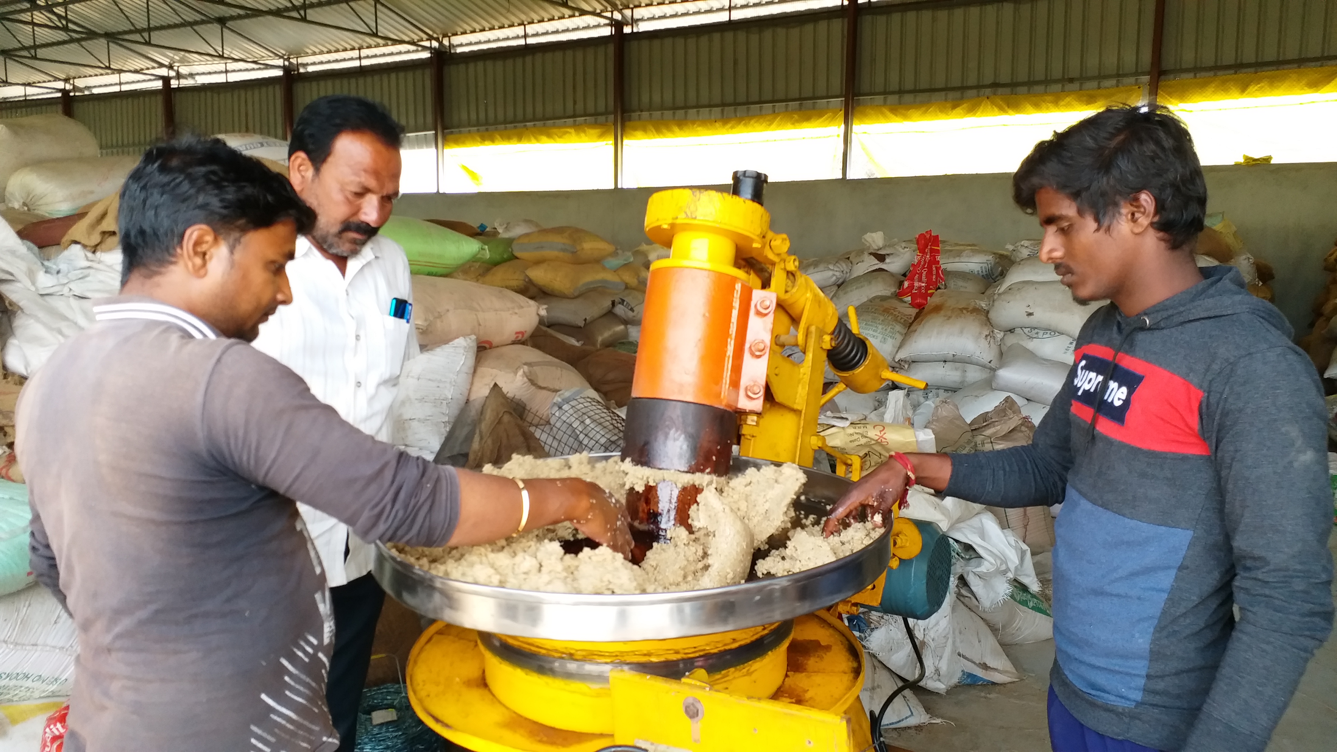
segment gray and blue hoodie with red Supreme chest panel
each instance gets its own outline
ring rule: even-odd
[[[1051,682],[1078,720],[1261,752],[1332,629],[1328,416],[1281,313],[1234,268],[1203,274],[1092,314],[1035,443],[955,455],[947,492],[1063,502]]]

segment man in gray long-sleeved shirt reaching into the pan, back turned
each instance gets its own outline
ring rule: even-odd
[[[151,149],[122,191],[123,297],[24,388],[32,566],[79,633],[70,752],[338,745],[329,591],[293,498],[365,541],[440,546],[572,521],[626,550],[583,480],[404,455],[242,340],[290,293],[310,210],[218,140]],[[532,508],[531,508],[532,502]]]

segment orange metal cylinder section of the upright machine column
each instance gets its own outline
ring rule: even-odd
[[[721,272],[652,269],[631,396],[735,409],[751,293]]]

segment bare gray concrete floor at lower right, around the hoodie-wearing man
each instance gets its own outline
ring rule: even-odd
[[[1328,549],[1337,555],[1337,531]],[[1337,587],[1333,589],[1337,602]],[[1025,678],[995,686],[957,686],[947,694],[919,690],[924,707],[948,724],[886,733],[886,741],[909,752],[1039,752],[1050,748],[1044,715],[1054,662],[1054,641],[1005,648]],[[1309,662],[1290,708],[1267,752],[1337,749],[1337,637]]]

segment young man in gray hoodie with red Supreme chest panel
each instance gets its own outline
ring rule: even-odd
[[[1056,752],[1261,752],[1332,629],[1318,376],[1238,270],[1194,264],[1207,190],[1167,110],[1098,112],[1036,145],[1012,186],[1044,227],[1040,258],[1075,298],[1110,305],[1034,444],[898,459],[953,496],[1063,502]],[[828,531],[910,480],[878,467]]]

